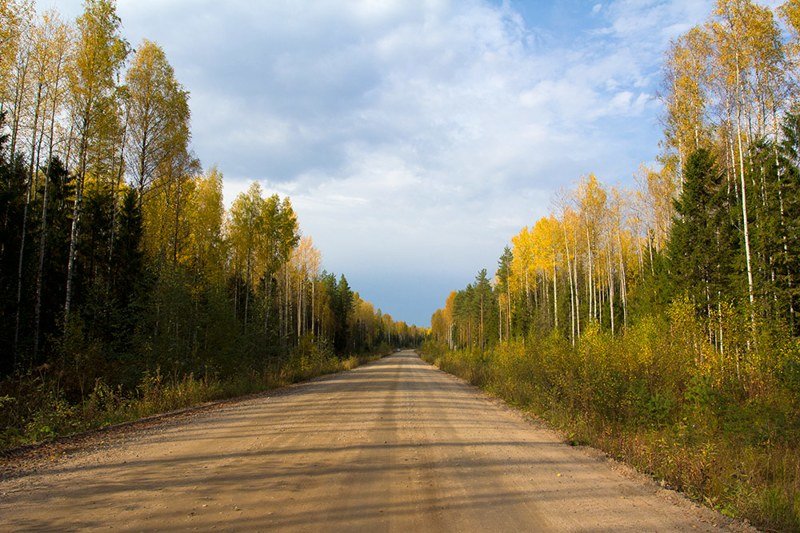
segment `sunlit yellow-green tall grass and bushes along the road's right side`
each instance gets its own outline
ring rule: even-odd
[[[576,347],[558,335],[484,354],[429,342],[423,357],[723,514],[800,531],[797,341],[764,329],[749,351],[720,354],[684,307],[623,335],[589,328]]]

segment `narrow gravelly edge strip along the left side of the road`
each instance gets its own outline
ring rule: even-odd
[[[330,374],[322,374],[305,381],[299,381],[283,387],[266,389],[261,392],[254,392],[244,396],[234,396],[213,400],[200,404],[157,413],[136,420],[128,420],[116,424],[109,424],[99,428],[89,429],[70,435],[62,435],[52,440],[36,444],[26,444],[16,448],[0,451],[0,482],[8,481],[30,475],[44,466],[52,466],[55,461],[67,460],[83,453],[97,452],[102,449],[118,446],[135,439],[143,432],[157,431],[174,427],[175,425],[191,420],[195,417],[206,415],[218,411],[224,407],[236,405],[259,398],[271,398],[275,396],[285,396],[293,394],[311,383],[335,379],[336,376],[347,372],[353,372],[359,368],[373,365],[381,359],[392,355],[391,352],[383,355],[376,355],[363,364],[349,370],[340,370]],[[416,353],[416,352],[415,352]]]

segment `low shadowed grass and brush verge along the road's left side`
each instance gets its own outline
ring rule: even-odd
[[[110,387],[98,379],[83,400],[74,402],[67,399],[58,380],[47,374],[6,381],[0,384],[0,452],[350,370],[390,351],[384,345],[375,354],[340,358],[318,344],[301,342],[290,357],[233,377],[221,379],[209,372],[175,377],[155,369],[145,374],[135,391]]]

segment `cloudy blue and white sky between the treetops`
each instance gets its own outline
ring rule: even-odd
[[[39,0],[72,18],[80,0]],[[290,196],[323,266],[428,325],[590,172],[630,185],[661,138],[669,41],[706,0],[118,0],[190,92],[192,147]]]

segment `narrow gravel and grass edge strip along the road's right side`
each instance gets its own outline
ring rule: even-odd
[[[419,354],[419,352],[417,352],[416,350],[415,353]],[[495,407],[502,409],[504,412],[513,415],[514,417],[519,419],[522,423],[532,426],[538,431],[542,431],[551,435],[553,439],[558,440],[564,446],[567,446],[570,449],[575,450],[577,453],[581,453],[585,457],[597,463],[605,464],[611,470],[623,476],[624,478],[640,484],[645,489],[655,494],[658,498],[679,507],[680,509],[684,510],[687,513],[691,513],[691,515],[697,518],[697,520],[709,524],[719,524],[724,529],[734,532],[751,533],[759,531],[758,529],[753,527],[753,525],[750,524],[748,520],[725,516],[716,509],[709,507],[704,502],[694,500],[679,490],[670,488],[666,485],[659,483],[652,475],[637,470],[633,465],[626,463],[624,461],[620,461],[599,448],[594,448],[592,446],[585,446],[585,445],[576,446],[574,444],[571,444],[569,442],[570,439],[565,432],[552,427],[550,424],[547,423],[547,421],[545,421],[543,418],[539,417],[535,413],[519,407],[515,407],[506,402],[501,397],[492,394],[489,391],[481,389],[480,387],[473,385],[472,383],[456,376],[455,374],[451,374],[449,372],[442,370],[438,366],[429,363],[422,357],[420,357],[420,360],[423,363],[430,365],[437,372],[444,374],[448,379],[461,384],[465,388],[471,389],[476,396],[482,398],[487,403],[490,403]]]

